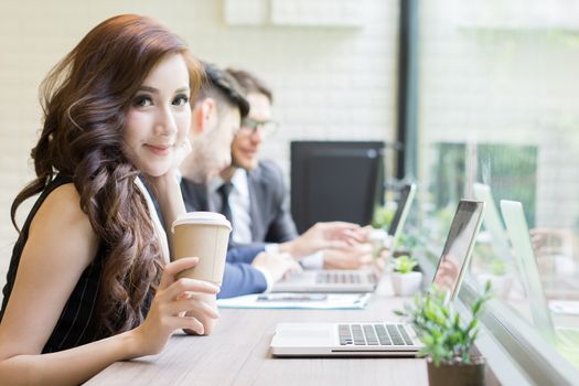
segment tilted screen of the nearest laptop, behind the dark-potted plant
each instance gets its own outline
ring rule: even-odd
[[[462,200],[450,226],[433,282],[454,299],[481,226],[484,203]]]

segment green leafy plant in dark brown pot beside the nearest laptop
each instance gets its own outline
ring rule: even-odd
[[[425,344],[418,355],[427,358],[431,386],[484,385],[485,361],[472,355],[472,346],[479,335],[479,318],[491,299],[491,283],[471,304],[470,320],[462,321],[447,299],[446,291],[432,286],[396,314],[412,323]]]

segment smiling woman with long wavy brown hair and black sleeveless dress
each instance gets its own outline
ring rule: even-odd
[[[169,262],[171,239],[141,182],[167,224],[184,212],[174,172],[190,149],[199,68],[164,26],[120,15],[44,81],[36,179],[11,212],[18,228],[18,207],[40,193],[3,290],[2,385],[79,384],[112,362],[160,352],[176,329],[211,330],[218,288],[175,280],[197,260]]]

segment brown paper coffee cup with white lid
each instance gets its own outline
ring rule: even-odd
[[[199,257],[195,267],[179,278],[204,280],[221,286],[232,225],[224,215],[213,212],[190,212],[173,223],[173,256]]]

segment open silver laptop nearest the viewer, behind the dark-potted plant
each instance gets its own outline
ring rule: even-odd
[[[484,203],[461,201],[433,281],[453,300],[467,271]],[[422,347],[414,329],[400,322],[280,323],[271,340],[274,356],[415,356]]]

